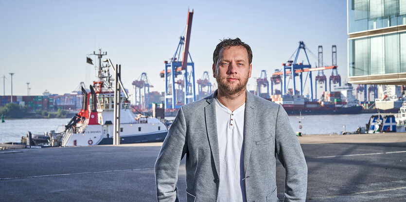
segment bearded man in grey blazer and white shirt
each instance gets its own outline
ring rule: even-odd
[[[251,48],[239,38],[213,53],[218,90],[177,112],[155,164],[159,202],[178,201],[186,154],[188,202],[277,202],[276,155],[285,168],[284,202],[304,202],[307,166],[281,105],[246,90]]]

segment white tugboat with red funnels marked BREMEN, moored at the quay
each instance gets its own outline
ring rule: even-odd
[[[65,125],[65,130],[61,133],[51,131],[43,136],[29,133],[25,140],[28,146],[113,144],[114,92],[112,81],[114,78],[109,74],[109,65],[102,63],[102,57],[106,54],[102,54],[100,49],[99,54],[93,54],[99,59],[98,81],[94,81],[93,85],[90,85],[90,92],[82,86],[82,109]],[[130,102],[124,93],[121,93],[120,143],[163,141],[168,133],[164,121],[161,118],[135,115],[130,107]]]

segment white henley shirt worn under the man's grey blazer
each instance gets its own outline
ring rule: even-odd
[[[220,176],[217,202],[246,202],[244,184],[245,103],[231,111],[216,98]]]

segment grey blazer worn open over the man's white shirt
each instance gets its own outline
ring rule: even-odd
[[[215,93],[182,106],[163,141],[155,179],[159,202],[177,202],[177,171],[186,154],[188,202],[216,202],[219,152]],[[304,202],[307,165],[285,110],[249,92],[244,120],[247,202],[278,202],[276,155],[285,168],[284,202]],[[235,176],[239,177],[239,176]]]

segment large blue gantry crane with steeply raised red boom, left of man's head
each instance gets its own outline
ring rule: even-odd
[[[195,101],[195,87],[194,87],[194,62],[189,52],[190,34],[192,30],[193,10],[188,10],[188,20],[186,22],[185,36],[181,36],[177,49],[171,60],[165,61],[165,69],[160,72],[160,77],[165,78],[165,109],[178,109],[184,103]],[[180,52],[183,47],[182,61],[179,61]],[[190,62],[188,62],[188,58]],[[184,98],[178,100],[177,92],[175,90],[175,78],[177,75],[183,74],[184,77]],[[169,102],[171,103],[169,105]]]

